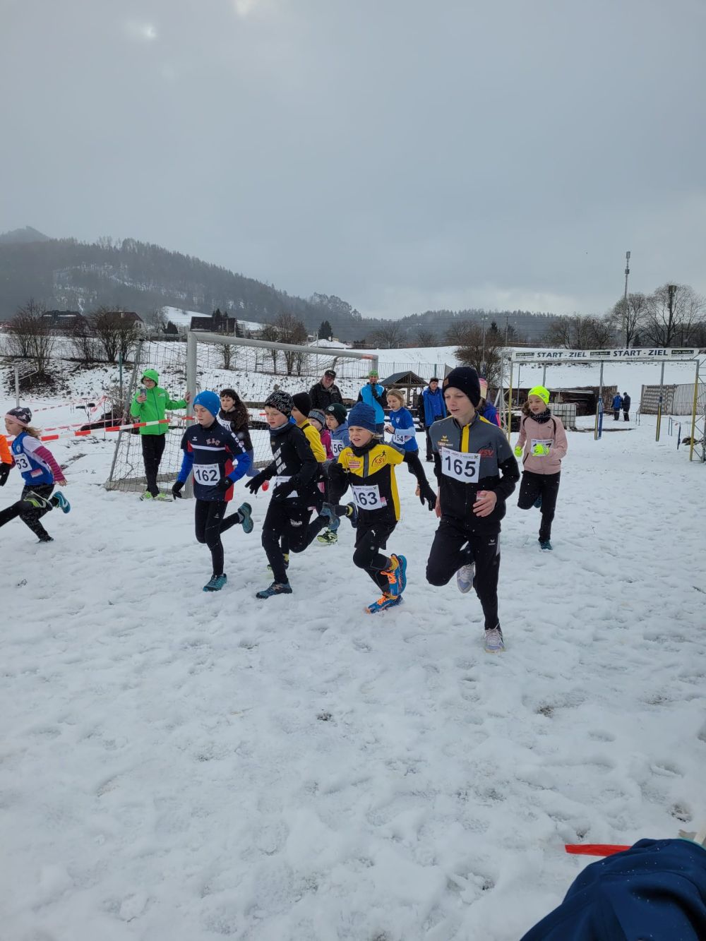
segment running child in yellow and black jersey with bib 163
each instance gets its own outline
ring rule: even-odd
[[[381,550],[387,548],[387,541],[400,518],[394,468],[403,461],[409,463],[409,455],[377,438],[376,418],[375,409],[365,403],[351,408],[348,415],[350,446],[329,468],[331,495],[335,493],[340,499],[350,486],[358,510],[353,563],[366,571],[382,592],[377,601],[363,609],[366,614],[377,614],[398,605],[407,585],[405,556],[384,555]],[[420,499],[431,510],[436,494],[426,478],[418,480]]]

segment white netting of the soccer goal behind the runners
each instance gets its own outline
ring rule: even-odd
[[[262,468],[272,459],[263,410],[270,392],[278,389],[290,394],[308,392],[327,369],[332,369],[345,404],[351,406],[373,367],[377,367],[377,357],[359,350],[295,346],[191,331],[186,344],[161,341],[138,344],[122,409],[126,422],[135,421],[128,417],[130,403],[143,371],[148,368],[159,373],[159,385],[173,401],[183,398],[186,389],[191,392],[192,401],[200,391],[220,393],[233,389],[248,407],[255,466]],[[157,480],[170,484],[182,465],[182,435],[193,420],[190,408],[168,411],[166,417],[168,432]],[[139,429],[121,431],[105,487],[140,491],[145,485]]]

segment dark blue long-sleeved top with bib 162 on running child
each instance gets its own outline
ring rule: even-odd
[[[230,428],[214,419],[208,428],[192,424],[182,438],[182,469],[177,480],[185,483],[194,474],[194,496],[197,500],[230,500],[233,489],[217,490],[224,477],[232,484],[249,470],[250,458]]]

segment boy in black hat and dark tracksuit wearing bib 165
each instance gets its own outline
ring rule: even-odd
[[[430,429],[441,524],[426,581],[444,585],[456,573],[459,591],[475,588],[485,615],[485,648],[499,653],[505,649],[498,623],[500,520],[520,470],[500,428],[475,411],[480,385],[474,369],[459,366],[449,373],[444,400],[449,417]]]

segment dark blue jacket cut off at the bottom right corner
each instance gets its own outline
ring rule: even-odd
[[[641,839],[587,866],[558,908],[521,941],[703,941],[706,850]]]

